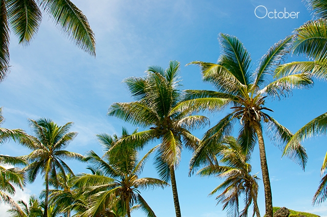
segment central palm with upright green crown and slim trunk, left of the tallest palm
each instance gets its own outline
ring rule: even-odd
[[[180,63],[170,61],[166,70],[159,66],[151,66],[144,78],[124,79],[123,82],[136,101],[113,103],[108,111],[109,116],[150,128],[121,139],[126,146],[142,149],[149,141],[160,139],[155,166],[161,179],[167,182],[171,180],[176,217],[181,217],[181,209],[175,169],[181,159],[183,145],[195,150],[200,140],[189,130],[204,126],[208,122],[208,118],[204,116],[188,116],[190,108],[174,110],[182,100],[183,94],[179,89],[181,86],[179,70]]]

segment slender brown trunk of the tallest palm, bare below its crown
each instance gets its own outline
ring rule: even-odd
[[[266,159],[264,137],[262,135],[262,130],[258,122],[254,121],[253,127],[257,134],[258,143],[259,143],[260,164],[261,164],[261,171],[262,171],[262,179],[264,181],[264,188],[265,188],[266,217],[272,217],[272,195],[271,195],[270,179],[269,179],[268,165]]]

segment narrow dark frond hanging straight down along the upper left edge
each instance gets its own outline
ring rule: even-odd
[[[9,25],[6,2],[0,2],[0,82],[9,73]]]

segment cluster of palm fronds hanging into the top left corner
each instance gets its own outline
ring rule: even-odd
[[[40,9],[78,47],[95,56],[94,33],[82,11],[70,0],[3,0],[0,2],[0,82],[9,72],[10,28],[20,44],[29,44],[41,24]]]

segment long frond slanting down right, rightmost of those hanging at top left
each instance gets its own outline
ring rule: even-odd
[[[70,0],[43,0],[41,7],[48,13],[63,34],[78,47],[95,56],[95,38],[88,20]]]

